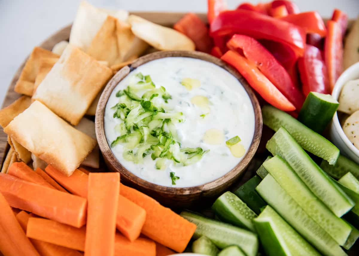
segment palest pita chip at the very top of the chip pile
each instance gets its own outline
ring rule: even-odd
[[[87,48],[109,15],[118,20],[126,20],[128,12],[123,10],[100,9],[86,1],[81,1],[71,27],[70,44],[87,52]]]

